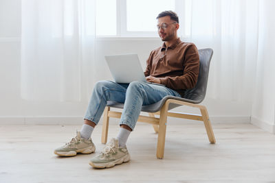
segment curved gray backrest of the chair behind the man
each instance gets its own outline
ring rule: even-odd
[[[212,55],[212,49],[199,49],[199,77],[195,88],[188,89],[184,93],[185,99],[195,101],[194,103],[201,103],[201,101],[203,101],[206,96],[209,66]]]

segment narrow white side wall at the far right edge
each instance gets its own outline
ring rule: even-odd
[[[259,49],[253,84],[252,121],[273,125],[275,133],[275,1],[260,1]],[[254,119],[253,119],[254,118]],[[264,127],[262,125],[261,127]],[[267,125],[268,126],[268,125]]]

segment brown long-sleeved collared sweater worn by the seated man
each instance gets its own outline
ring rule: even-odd
[[[160,82],[184,96],[184,90],[194,88],[199,76],[199,53],[190,42],[177,41],[166,48],[151,51],[147,60],[145,76],[161,77]]]

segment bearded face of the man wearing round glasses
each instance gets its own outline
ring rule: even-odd
[[[157,19],[157,27],[159,27],[158,33],[162,41],[169,41],[177,35],[179,24],[171,20],[170,16],[164,16]]]

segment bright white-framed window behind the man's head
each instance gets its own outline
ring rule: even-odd
[[[177,12],[179,36],[186,36],[190,34],[189,8],[191,0],[96,0],[96,36],[157,37],[155,18],[165,10]]]

